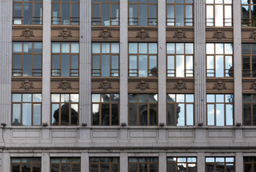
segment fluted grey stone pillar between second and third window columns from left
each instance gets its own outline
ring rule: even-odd
[[[91,1],[80,1],[79,125],[91,125]]]

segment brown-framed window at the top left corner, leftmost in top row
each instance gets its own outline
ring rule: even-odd
[[[42,24],[42,0],[14,0],[13,24]]]

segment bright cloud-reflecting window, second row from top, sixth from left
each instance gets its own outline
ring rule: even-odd
[[[233,77],[233,44],[206,44],[207,77]]]

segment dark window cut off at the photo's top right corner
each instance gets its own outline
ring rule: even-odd
[[[242,0],[242,27],[256,27],[256,2]]]

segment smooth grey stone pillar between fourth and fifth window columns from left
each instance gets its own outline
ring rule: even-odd
[[[166,125],[166,2],[158,1],[158,116]]]

